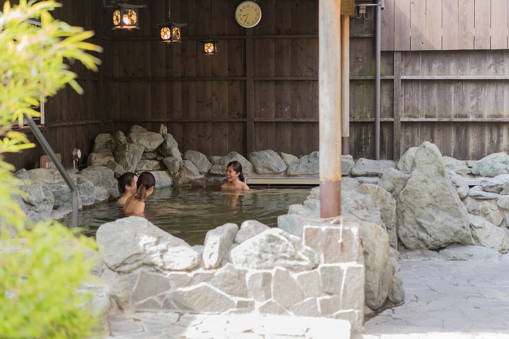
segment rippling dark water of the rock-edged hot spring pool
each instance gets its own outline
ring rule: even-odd
[[[309,188],[254,188],[247,192],[217,189],[156,189],[146,199],[145,218],[191,245],[203,244],[205,233],[224,223],[256,219],[276,226],[277,216],[292,204],[302,203]],[[103,223],[124,218],[122,206],[103,202],[80,210],[79,221],[95,234]],[[71,216],[64,223],[69,225]]]

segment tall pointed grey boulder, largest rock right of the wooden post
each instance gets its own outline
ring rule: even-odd
[[[439,249],[472,244],[467,210],[446,176],[438,148],[423,142],[414,169],[398,195],[398,235],[406,248]]]

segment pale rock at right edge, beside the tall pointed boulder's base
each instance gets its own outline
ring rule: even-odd
[[[505,231],[477,215],[468,215],[470,230],[476,245],[505,253],[509,250],[509,238]]]

